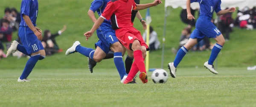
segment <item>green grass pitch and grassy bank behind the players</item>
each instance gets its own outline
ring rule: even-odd
[[[96,33],[88,41],[83,34],[93,23],[87,15],[92,0],[39,0],[37,25],[42,30],[57,32],[64,24],[67,31],[56,40],[64,51],[79,40],[93,48]],[[141,3],[149,3],[141,0]],[[163,1],[164,2],[164,1]],[[5,7],[19,10],[21,0],[1,0],[0,15]],[[166,23],[164,65],[172,62],[180,34],[185,24],[180,10],[172,10]],[[164,5],[150,8],[154,30],[159,40],[163,36]],[[140,11],[145,17],[145,10]],[[236,14],[233,14],[236,16]],[[142,33],[139,20],[135,28]],[[177,78],[166,84],[121,84],[113,59],[98,63],[94,73],[87,69],[87,58],[79,53],[65,56],[64,52],[39,61],[32,71],[31,82],[18,83],[26,58],[9,57],[0,60],[0,107],[256,107],[256,72],[246,67],[256,65],[256,30],[234,28],[230,41],[218,55],[218,75],[203,68],[210,51],[189,52],[180,63]],[[17,31],[13,34],[16,39]],[[5,50],[6,51],[6,50]],[[161,50],[150,53],[150,68],[160,68]],[[196,69],[195,66],[199,68]],[[168,71],[168,70],[167,70]],[[169,71],[168,71],[169,72]],[[148,73],[151,76],[151,72]]]

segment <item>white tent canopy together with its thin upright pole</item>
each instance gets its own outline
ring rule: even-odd
[[[165,18],[164,18],[164,27],[163,27],[163,48],[162,48],[162,64],[161,68],[163,69],[163,60],[164,60],[164,45],[165,45],[165,36],[166,36],[166,17],[169,15],[167,11],[167,7],[171,6],[172,8],[181,7],[186,9],[186,0],[165,0]],[[227,7],[238,7],[244,8],[249,7],[253,8],[256,6],[256,0],[221,0],[221,9],[225,9]],[[196,9],[199,8],[199,3],[192,3],[191,8]]]

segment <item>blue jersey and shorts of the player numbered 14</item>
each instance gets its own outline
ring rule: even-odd
[[[200,16],[190,38],[197,38],[200,41],[204,37],[215,38],[221,35],[218,28],[211,22],[213,11],[216,13],[221,11],[221,0],[191,0],[190,2],[198,2],[200,5]]]

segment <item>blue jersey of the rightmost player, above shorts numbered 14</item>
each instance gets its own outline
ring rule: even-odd
[[[221,11],[221,0],[190,0],[191,3],[198,2],[200,5],[200,15],[212,18],[213,11]]]

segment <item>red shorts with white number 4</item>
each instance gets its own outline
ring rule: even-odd
[[[148,45],[143,40],[140,31],[138,31],[134,27],[116,29],[116,38],[119,40],[119,42],[122,43],[122,45],[125,46],[125,48],[128,48],[130,50],[132,50],[132,43],[134,42],[135,39],[137,39],[139,40],[140,45],[145,46],[147,48],[147,51],[149,51]]]

